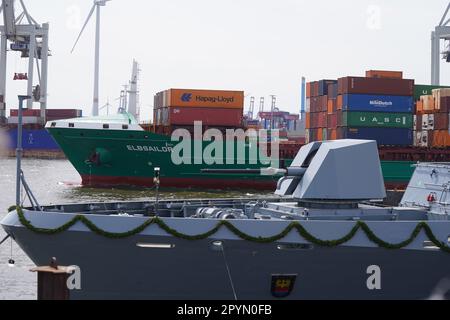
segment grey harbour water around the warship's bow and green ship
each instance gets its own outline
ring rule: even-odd
[[[24,159],[25,178],[40,204],[98,202],[114,200],[154,199],[155,191],[147,189],[92,189],[80,185],[81,178],[67,160]],[[16,161],[0,158],[0,220],[7,209],[15,203]],[[240,191],[193,191],[161,190],[163,199],[174,198],[219,198],[254,196],[254,193]],[[27,205],[27,202],[25,202]],[[0,240],[6,236],[0,228]],[[9,267],[8,260],[15,260]],[[7,240],[0,246],[0,300],[36,299],[37,275],[29,270],[33,262],[14,241]]]

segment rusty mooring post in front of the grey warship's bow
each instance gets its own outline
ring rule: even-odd
[[[58,266],[52,258],[50,266],[30,270],[38,273],[38,300],[69,300],[70,290],[67,279],[72,273],[69,267]]]

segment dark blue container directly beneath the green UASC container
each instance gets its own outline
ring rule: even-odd
[[[344,139],[376,140],[383,146],[411,146],[413,131],[398,128],[343,128]]]

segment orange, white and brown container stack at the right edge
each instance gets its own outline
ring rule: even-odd
[[[423,91],[420,88],[417,88],[417,90]],[[416,114],[414,116],[414,146],[423,148],[449,147],[449,112],[449,88],[432,89],[431,95],[420,96],[416,103]]]

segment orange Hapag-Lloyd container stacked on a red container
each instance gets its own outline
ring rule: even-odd
[[[169,89],[154,97],[155,126],[240,127],[244,109],[243,91]]]

